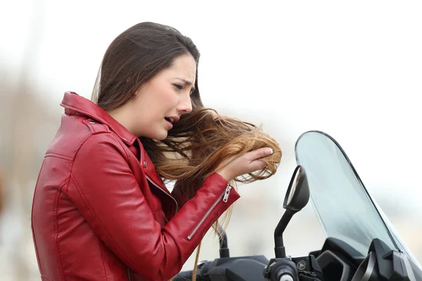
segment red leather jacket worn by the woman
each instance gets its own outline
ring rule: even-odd
[[[41,279],[169,280],[238,193],[212,174],[178,207],[138,138],[82,96],[61,105],[32,204]]]

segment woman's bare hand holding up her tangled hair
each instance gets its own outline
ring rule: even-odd
[[[224,166],[224,168],[217,169],[217,174],[226,181],[231,181],[237,176],[264,169],[266,164],[260,158],[271,155],[272,152],[271,148],[260,148],[247,152],[240,157],[231,158],[229,159],[229,164]]]

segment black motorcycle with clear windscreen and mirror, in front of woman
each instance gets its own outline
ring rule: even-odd
[[[295,144],[296,166],[286,209],[274,230],[274,258],[230,257],[226,234],[220,257],[198,264],[198,281],[422,281],[422,267],[371,198],[337,141],[321,131]],[[295,213],[312,202],[326,233],[321,249],[286,256],[283,232]],[[191,280],[192,271],[174,281]]]

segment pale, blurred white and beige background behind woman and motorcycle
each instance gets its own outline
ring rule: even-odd
[[[275,176],[238,187],[242,198],[227,230],[232,256],[274,256],[295,141],[316,129],[343,146],[421,263],[420,1],[0,5],[0,280],[40,280],[30,230],[32,194],[60,125],[63,93],[90,98],[108,44],[143,21],[191,37],[201,52],[198,81],[205,105],[262,124],[283,149]],[[298,256],[320,248],[324,239],[309,204],[293,218],[284,240],[287,254]],[[210,233],[200,259],[217,256],[217,238]]]

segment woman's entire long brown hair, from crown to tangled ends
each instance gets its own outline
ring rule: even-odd
[[[279,144],[260,127],[218,115],[205,108],[198,89],[200,53],[193,41],[173,27],[141,22],[120,34],[108,47],[101,63],[92,99],[103,110],[113,110],[131,100],[139,87],[170,67],[174,58],[191,54],[196,61],[192,112],[174,123],[163,141],[141,137],[141,143],[164,180],[175,180],[172,194],[179,205],[195,196],[207,176],[222,169],[232,157],[257,148],[270,147],[273,155],[263,160],[267,166],[234,182],[252,182],[276,172],[281,159]],[[232,183],[234,184],[234,183]],[[229,218],[231,208],[226,212]],[[228,221],[228,220],[226,220]],[[217,227],[214,228],[219,233]],[[199,249],[196,254],[198,261]],[[193,272],[196,280],[196,265]]]

